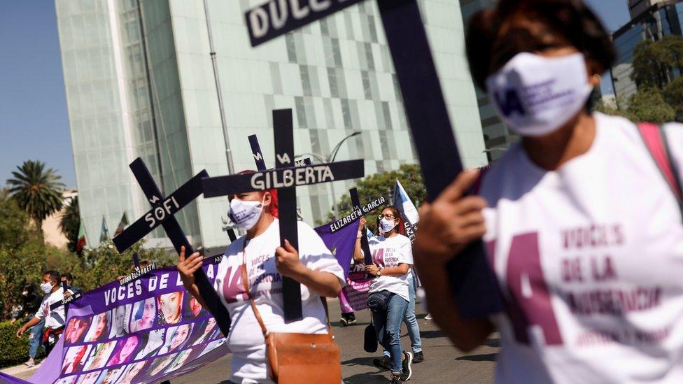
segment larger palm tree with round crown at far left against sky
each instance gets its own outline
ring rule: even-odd
[[[34,220],[42,239],[43,220],[62,209],[62,176],[52,168],[45,169],[45,163],[38,160],[27,160],[17,170],[7,180],[10,194]]]

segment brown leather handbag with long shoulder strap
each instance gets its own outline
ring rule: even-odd
[[[244,251],[243,251],[244,257]],[[328,318],[328,334],[289,334],[268,332],[261,314],[256,308],[244,258],[242,262],[242,281],[251,301],[256,320],[266,341],[266,356],[272,381],[280,384],[321,383],[339,384],[342,382],[342,363],[339,346],[334,341],[328,303],[321,297]]]

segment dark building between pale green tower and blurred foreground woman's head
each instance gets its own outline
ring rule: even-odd
[[[460,0],[460,9],[463,13],[465,25],[467,25],[467,20],[470,20],[470,17],[478,10],[493,8],[495,3],[496,0]],[[477,92],[477,106],[479,106],[481,129],[484,131],[488,159],[494,161],[502,157],[512,143],[519,141],[519,136],[510,132],[505,123],[500,120],[491,100],[488,99],[486,90],[481,90],[476,85],[474,88]]]

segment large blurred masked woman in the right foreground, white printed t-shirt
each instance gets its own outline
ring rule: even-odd
[[[470,20],[467,55],[522,140],[423,206],[433,317],[463,350],[497,328],[498,381],[683,381],[683,127],[663,127],[667,147],[657,127],[584,108],[615,53],[580,0],[500,0]],[[463,320],[446,263],[482,238],[505,312]]]

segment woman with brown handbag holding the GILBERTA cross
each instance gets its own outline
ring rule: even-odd
[[[280,247],[275,190],[230,196],[229,216],[237,228],[246,230],[246,236],[227,247],[214,285],[232,319],[226,340],[232,352],[229,382],[272,383],[265,339],[244,287],[242,265],[246,265],[249,290],[268,332],[328,333],[321,296],[339,296],[344,271],[320,236],[304,222],[297,222],[299,252],[289,245]],[[201,265],[199,253],[187,258],[181,253],[178,271],[188,292],[205,307],[192,274]],[[301,283],[303,320],[284,321],[283,276]]]

